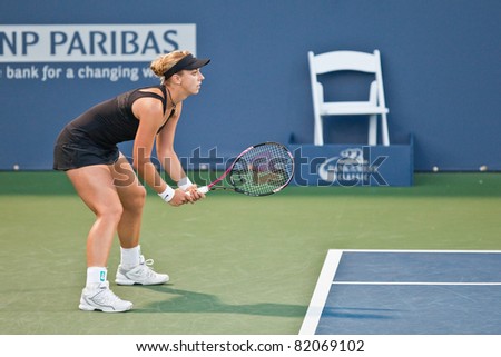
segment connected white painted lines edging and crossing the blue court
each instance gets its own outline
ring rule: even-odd
[[[299,335],[315,335],[328,292],[333,285],[463,285],[498,286],[501,282],[370,282],[370,281],[333,281],[343,252],[433,252],[433,254],[501,254],[501,250],[384,250],[384,249],[330,249],[325,257],[321,275],[316,282],[312,300],[299,329]]]

